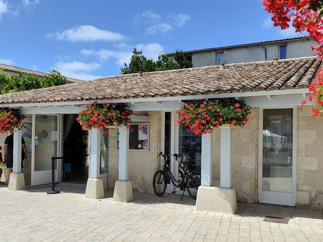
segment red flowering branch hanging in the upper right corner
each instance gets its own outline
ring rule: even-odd
[[[319,59],[323,59],[323,1],[321,0],[261,0],[263,8],[272,13],[274,26],[282,29],[290,27],[289,22],[296,32],[307,31],[309,36],[318,43],[311,49]],[[317,78],[308,88],[309,101],[315,100],[312,106],[312,117],[323,116],[323,75],[321,69],[317,72]],[[306,101],[302,101],[305,105]]]

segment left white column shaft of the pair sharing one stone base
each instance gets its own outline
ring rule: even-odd
[[[201,186],[212,186],[213,135],[202,135]]]

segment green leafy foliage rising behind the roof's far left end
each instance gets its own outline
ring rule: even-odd
[[[58,86],[66,84],[66,81],[67,78],[55,70],[49,71],[49,74],[45,77],[37,77],[26,73],[8,75],[0,70],[1,94]]]

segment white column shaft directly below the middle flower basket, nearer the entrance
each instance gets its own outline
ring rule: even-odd
[[[100,178],[100,135],[98,129],[91,129],[90,136],[90,176],[89,178]]]

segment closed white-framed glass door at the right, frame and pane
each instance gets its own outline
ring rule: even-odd
[[[295,206],[295,109],[261,109],[259,202]]]

